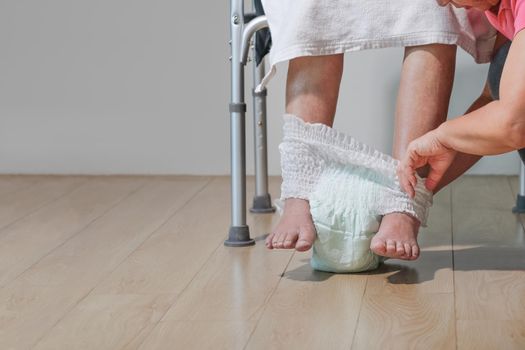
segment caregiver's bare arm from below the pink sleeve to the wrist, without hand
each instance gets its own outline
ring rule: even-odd
[[[476,155],[525,147],[525,30],[512,42],[501,77],[500,100],[443,123],[436,137],[446,148]]]

